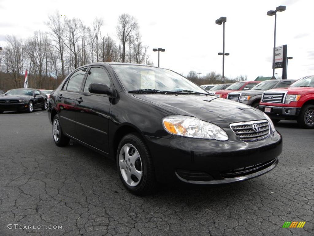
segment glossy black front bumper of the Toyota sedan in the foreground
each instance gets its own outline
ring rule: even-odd
[[[225,142],[180,136],[145,138],[156,177],[167,183],[220,184],[251,179],[272,170],[282,151],[278,132],[256,142],[237,138]]]

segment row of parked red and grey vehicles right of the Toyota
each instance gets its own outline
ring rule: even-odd
[[[256,83],[256,86],[249,87]],[[208,93],[257,108],[274,123],[294,120],[302,128],[314,128],[314,76],[305,76],[297,81],[242,81],[224,90],[212,89]]]

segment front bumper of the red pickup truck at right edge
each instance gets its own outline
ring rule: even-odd
[[[270,108],[270,112],[265,112],[265,108]],[[300,107],[276,107],[259,105],[259,110],[265,112],[272,119],[296,120],[300,114]]]

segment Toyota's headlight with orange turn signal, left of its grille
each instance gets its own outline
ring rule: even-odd
[[[226,141],[227,133],[212,123],[185,115],[170,115],[162,119],[167,132],[183,137],[205,138]]]

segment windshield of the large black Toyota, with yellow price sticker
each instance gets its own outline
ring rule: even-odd
[[[167,69],[140,65],[111,65],[124,88],[130,92],[135,90],[198,92],[205,91],[185,77]]]

